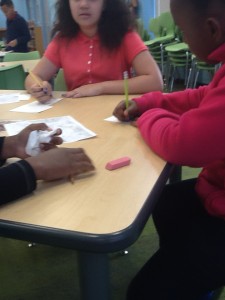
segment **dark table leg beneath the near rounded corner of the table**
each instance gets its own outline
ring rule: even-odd
[[[82,300],[109,300],[109,261],[105,253],[79,252]]]

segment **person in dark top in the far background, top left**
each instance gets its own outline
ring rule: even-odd
[[[1,0],[0,6],[6,16],[6,51],[28,52],[31,40],[28,24],[14,9],[11,0]]]

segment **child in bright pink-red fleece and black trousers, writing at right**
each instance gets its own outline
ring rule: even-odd
[[[225,1],[170,5],[191,51],[223,65],[208,86],[147,93],[114,110],[122,121],[137,118],[164,160],[202,167],[198,178],[165,186],[153,210],[159,249],[131,282],[129,300],[202,300],[225,285]]]

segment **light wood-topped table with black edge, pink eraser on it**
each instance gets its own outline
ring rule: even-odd
[[[82,299],[110,299],[107,253],[136,241],[171,169],[137,128],[104,121],[122,98],[63,99],[41,114],[10,112],[18,103],[0,106],[3,119],[71,115],[97,134],[63,145],[85,148],[96,167],[94,175],[81,176],[74,184],[66,179],[39,182],[32,195],[0,208],[0,235],[78,250]],[[132,159],[130,166],[105,169],[108,161],[122,156]]]

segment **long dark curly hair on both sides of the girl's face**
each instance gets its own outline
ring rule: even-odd
[[[98,24],[101,44],[110,50],[117,48],[124,35],[135,28],[135,20],[124,0],[104,0],[104,10]],[[59,33],[61,37],[75,37],[80,31],[74,21],[69,0],[56,2],[56,22],[52,36]]]

